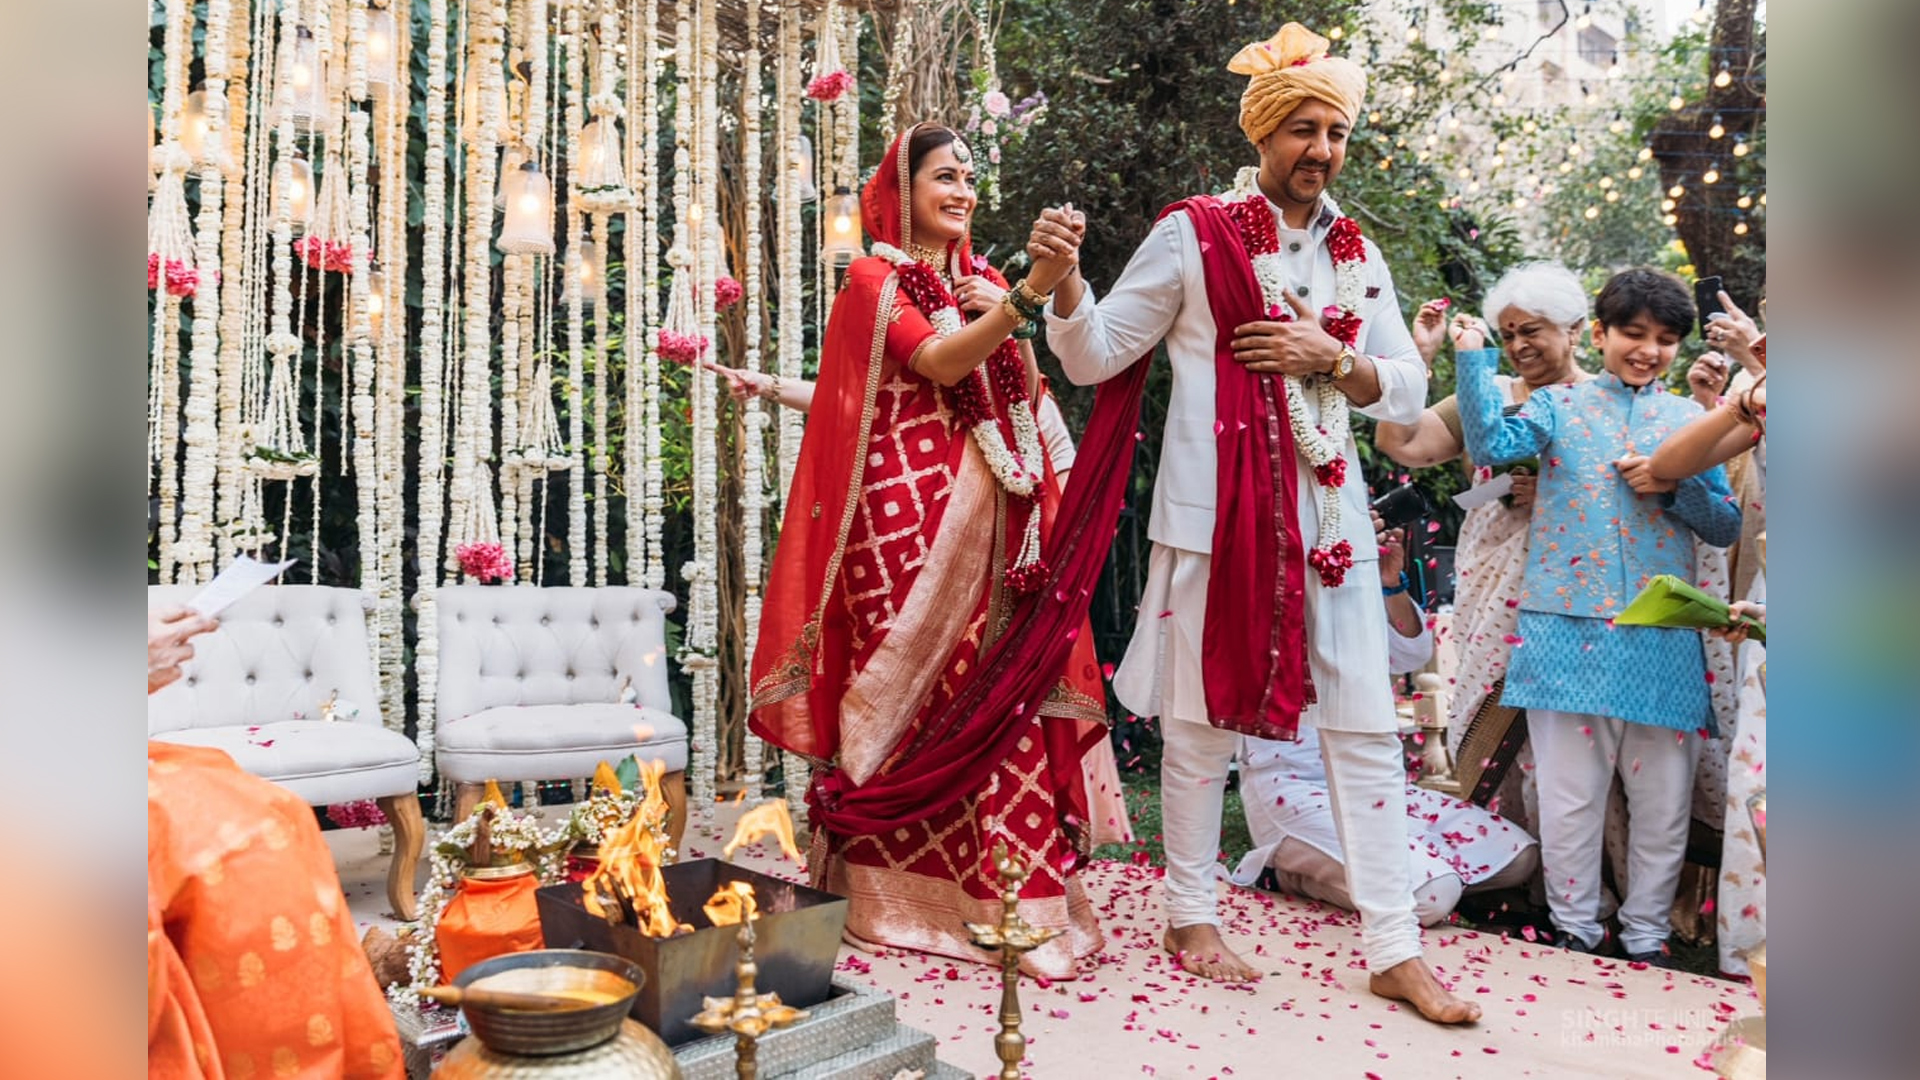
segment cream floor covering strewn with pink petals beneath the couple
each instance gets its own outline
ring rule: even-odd
[[[735,815],[720,807],[716,821],[730,830]],[[372,830],[326,836],[361,930],[394,926]],[[687,847],[689,857],[714,855],[720,840],[693,828]],[[778,851],[743,849],[739,861],[803,878]],[[1021,984],[1027,1076],[1705,1078],[1715,1036],[1730,1019],[1759,1013],[1745,984],[1634,970],[1524,940],[1428,930],[1428,963],[1484,1013],[1475,1028],[1440,1028],[1367,994],[1359,924],[1348,913],[1225,890],[1225,930],[1265,972],[1252,988],[1235,990],[1183,974],[1160,951],[1152,867],[1098,863],[1087,890],[1108,936],[1102,967],[1073,982]],[[943,1061],[975,1076],[998,1072],[996,969],[843,945],[839,970],[893,994],[902,1022],[941,1040]]]

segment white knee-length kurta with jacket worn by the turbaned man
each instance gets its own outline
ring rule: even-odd
[[[1288,288],[1311,307],[1332,302],[1334,271],[1325,238],[1338,215],[1327,198],[1311,229],[1281,229]],[[1357,411],[1411,425],[1427,405],[1427,365],[1407,332],[1380,250],[1371,240],[1365,248],[1369,296],[1356,348],[1373,359],[1380,398]],[[1154,227],[1106,298],[1096,302],[1087,286],[1071,315],[1060,317],[1052,307],[1046,313],[1046,344],[1068,379],[1079,384],[1119,375],[1162,340],[1173,365],[1173,392],[1146,530],[1154,552],[1133,642],[1114,675],[1114,694],[1139,715],[1206,724],[1200,642],[1217,475],[1215,325],[1200,244],[1185,213],[1169,213]],[[1317,421],[1313,398],[1308,398],[1308,409]],[[1311,569],[1306,575],[1308,657],[1317,703],[1306,709],[1302,723],[1329,730],[1390,732],[1398,730],[1398,719],[1380,651],[1386,617],[1371,573],[1379,548],[1352,436],[1346,461],[1350,480],[1340,492],[1340,536],[1352,544],[1356,567],[1340,588],[1321,586]],[[1317,488],[1306,459],[1296,455],[1294,465],[1300,536],[1302,544],[1313,546],[1321,538]]]

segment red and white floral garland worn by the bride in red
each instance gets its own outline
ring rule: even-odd
[[[943,338],[960,332],[962,315],[947,282],[927,263],[922,263],[893,244],[874,244],[874,254],[895,265],[900,277],[900,292],[914,307],[933,323],[933,331]],[[1044,477],[1041,457],[1041,425],[1027,404],[1027,365],[1020,359],[1014,338],[1004,338],[985,363],[975,367],[966,379],[948,386],[954,411],[960,423],[973,434],[993,479],[1000,488],[1016,498],[1037,502]],[[1014,448],[1006,446],[1000,432],[1000,417],[995,409],[995,392],[1006,400],[1008,421],[1014,427]],[[1041,559],[1041,515],[1039,505],[1027,513],[1025,536],[1014,565],[1006,571],[1006,586],[1025,596],[1041,586],[1046,577],[1046,563]]]

